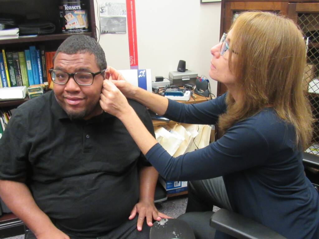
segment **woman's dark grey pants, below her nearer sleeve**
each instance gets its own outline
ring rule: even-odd
[[[212,239],[215,229],[209,225],[213,206],[232,210],[222,177],[189,181],[186,213],[178,219],[186,221],[196,239]]]

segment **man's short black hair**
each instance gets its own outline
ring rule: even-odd
[[[105,53],[102,47],[94,38],[86,35],[76,34],[65,39],[56,50],[53,62],[59,52],[69,55],[88,52],[95,56],[96,63],[100,70],[106,69],[107,67]]]

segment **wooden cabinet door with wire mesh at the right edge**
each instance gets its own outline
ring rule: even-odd
[[[309,98],[315,123],[312,144],[306,151],[319,156],[319,84],[315,84],[319,71],[319,3],[290,3],[288,16],[299,25],[305,38],[309,37],[303,89]]]

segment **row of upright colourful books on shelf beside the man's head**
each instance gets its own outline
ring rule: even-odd
[[[44,46],[30,46],[24,51],[0,51],[0,88],[44,84],[50,85],[48,70],[53,66],[55,51],[45,52]]]

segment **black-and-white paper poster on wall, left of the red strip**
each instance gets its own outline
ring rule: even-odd
[[[126,33],[126,1],[111,0],[100,2],[100,33],[125,34]]]

